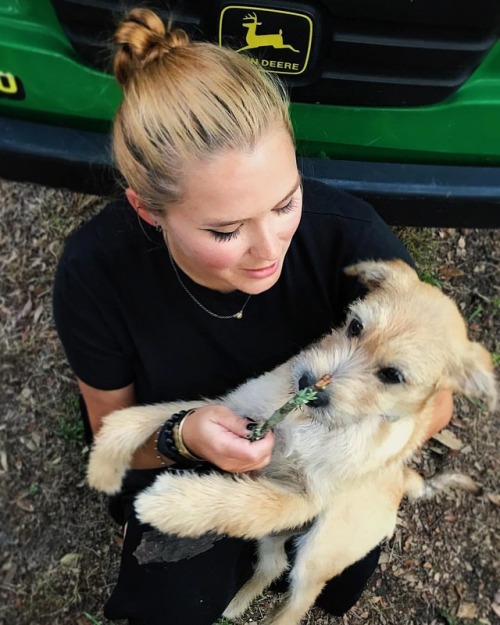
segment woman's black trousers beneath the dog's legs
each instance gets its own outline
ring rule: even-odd
[[[255,543],[223,538],[193,557],[177,562],[139,564],[134,552],[149,526],[133,514],[133,499],[158,471],[131,471],[121,495],[110,502],[120,523],[127,522],[116,587],[104,614],[110,620],[128,619],[129,625],[212,625],[252,575]],[[293,554],[291,554],[293,557]],[[379,548],[330,580],[316,601],[333,615],[346,612],[359,599],[378,562]],[[286,590],[286,578],[275,590]]]

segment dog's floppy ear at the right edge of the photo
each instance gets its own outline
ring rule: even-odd
[[[451,390],[470,397],[479,397],[494,411],[498,400],[498,388],[493,373],[491,354],[479,343],[468,342],[461,362],[449,374]]]

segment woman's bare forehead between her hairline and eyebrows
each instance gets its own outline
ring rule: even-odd
[[[207,222],[246,219],[273,208],[297,180],[292,139],[287,131],[275,130],[253,149],[224,151],[193,165],[175,208]]]

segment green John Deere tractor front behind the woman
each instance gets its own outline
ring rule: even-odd
[[[140,4],[282,78],[304,175],[391,224],[500,227],[498,0]],[[0,176],[113,189],[109,42],[131,5],[1,0]]]

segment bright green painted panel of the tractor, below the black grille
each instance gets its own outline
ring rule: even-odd
[[[0,114],[107,131],[114,78],[83,64],[49,0],[0,7]],[[406,163],[500,164],[500,42],[447,100],[415,108],[292,104],[298,152]]]

